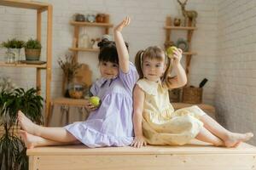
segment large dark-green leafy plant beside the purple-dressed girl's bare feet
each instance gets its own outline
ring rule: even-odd
[[[0,135],[0,169],[28,169],[26,146],[17,135],[17,112],[22,111],[33,122],[42,124],[42,108],[43,98],[34,88],[0,91],[0,126],[3,128]]]

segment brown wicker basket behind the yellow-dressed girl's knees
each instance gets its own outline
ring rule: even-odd
[[[202,88],[183,88],[183,103],[201,104],[202,92]]]

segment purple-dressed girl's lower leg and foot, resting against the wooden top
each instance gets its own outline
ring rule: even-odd
[[[20,130],[20,137],[26,145],[27,149],[32,149],[37,146],[49,146],[49,145],[65,145],[65,144],[80,144],[79,140],[75,142],[57,142],[54,140],[44,139],[40,136],[35,136],[26,131]]]

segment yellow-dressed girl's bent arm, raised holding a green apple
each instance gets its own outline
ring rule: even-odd
[[[173,54],[173,70],[177,74],[176,77],[168,77],[166,80],[166,86],[168,88],[180,88],[187,83],[187,75],[183,69],[183,66],[180,64],[182,58],[182,50],[177,48]]]

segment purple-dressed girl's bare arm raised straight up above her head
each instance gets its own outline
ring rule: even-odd
[[[113,30],[114,41],[116,43],[116,48],[119,54],[119,68],[124,73],[128,73],[129,71],[129,54],[125,46],[125,41],[121,34],[121,31],[125,26],[128,26],[130,24],[130,20],[131,19],[129,17],[125,17],[125,20],[123,20]]]

